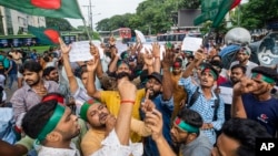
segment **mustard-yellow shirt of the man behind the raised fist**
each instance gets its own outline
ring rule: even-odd
[[[136,93],[136,103],[133,105],[132,110],[132,117],[140,119],[140,105],[141,105],[141,100],[145,96],[145,89],[138,90]],[[118,91],[100,91],[100,102],[107,105],[107,108],[109,112],[118,116],[119,110],[120,110],[120,94]],[[140,142],[141,137],[131,132],[131,141],[135,142]]]

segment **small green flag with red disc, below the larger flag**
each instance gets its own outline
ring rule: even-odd
[[[28,25],[28,31],[37,37],[42,44],[59,44],[60,33],[56,29],[51,28],[36,28]]]

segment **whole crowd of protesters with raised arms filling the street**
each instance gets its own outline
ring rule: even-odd
[[[119,52],[111,37],[103,58],[90,44],[93,59],[80,62],[61,39],[43,54],[1,52],[1,108],[17,137],[0,141],[0,155],[255,156],[256,138],[277,137],[277,70],[251,62],[248,45],[227,70],[212,42],[161,46]]]

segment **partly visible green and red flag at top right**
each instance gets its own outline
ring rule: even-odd
[[[226,13],[237,7],[240,3],[241,0],[222,0],[218,12],[214,19],[212,28],[217,28],[221,21],[224,20]]]

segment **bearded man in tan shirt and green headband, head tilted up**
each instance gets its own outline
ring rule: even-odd
[[[151,101],[146,102],[145,105],[149,105],[149,103],[151,103]],[[80,117],[90,125],[90,128],[81,142],[83,156],[89,156],[101,148],[101,142],[112,131],[117,118],[110,114],[106,105],[96,100],[89,100],[82,105]],[[140,136],[151,134],[143,122],[135,118],[131,118],[130,131]]]

